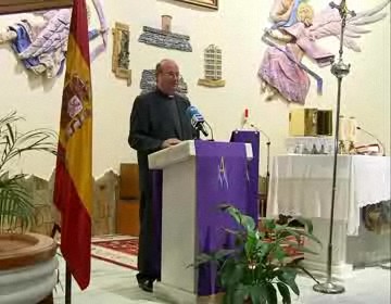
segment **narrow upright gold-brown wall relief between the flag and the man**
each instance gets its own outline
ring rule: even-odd
[[[127,86],[131,85],[131,71],[129,69],[129,26],[115,23],[113,28],[113,59],[112,71],[118,78],[127,79]]]

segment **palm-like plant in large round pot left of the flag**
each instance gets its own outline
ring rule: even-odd
[[[48,129],[21,132],[21,119],[15,112],[0,117],[0,303],[38,303],[56,283],[56,243],[28,232],[35,206],[23,183],[25,174],[15,169],[28,152],[55,154],[56,135]]]

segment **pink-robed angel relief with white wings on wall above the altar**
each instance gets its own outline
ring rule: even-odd
[[[304,104],[310,89],[310,76],[317,83],[321,93],[323,79],[302,63],[308,56],[319,67],[330,65],[335,55],[320,48],[316,41],[324,37],[340,37],[341,16],[331,7],[315,14],[310,0],[275,0],[270,20],[273,25],[265,29],[262,40],[268,45],[258,69],[262,90],[269,91],[267,100],[277,93],[287,101]],[[363,25],[373,24],[387,16],[381,11],[390,3],[382,2],[376,8],[357,13],[346,20],[343,45],[355,52],[361,48],[355,39],[370,30]]]

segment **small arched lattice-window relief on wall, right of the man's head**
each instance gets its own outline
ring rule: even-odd
[[[199,79],[199,86],[225,87],[225,80],[222,79],[222,50],[215,45],[210,45],[204,51],[204,79]]]

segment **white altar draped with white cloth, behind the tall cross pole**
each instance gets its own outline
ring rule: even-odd
[[[312,218],[323,249],[319,255],[305,253],[303,263],[315,275],[326,271],[332,169],[332,155],[281,155],[274,159],[270,173],[267,216]],[[338,156],[332,256],[337,279],[353,269],[346,263],[346,244],[349,236],[358,235],[360,208],[386,200],[390,200],[389,156]]]

